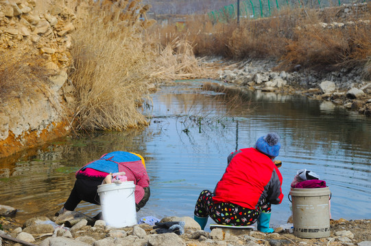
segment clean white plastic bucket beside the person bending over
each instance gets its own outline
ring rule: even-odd
[[[136,224],[133,181],[98,185],[101,213],[108,226],[123,228]]]

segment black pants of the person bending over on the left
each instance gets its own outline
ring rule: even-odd
[[[99,195],[97,194],[100,184],[101,181],[77,178],[64,208],[73,211],[81,201],[100,205]]]

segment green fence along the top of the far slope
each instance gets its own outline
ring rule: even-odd
[[[219,10],[208,12],[208,17],[213,23],[230,23],[237,18],[237,0],[234,4],[226,5]],[[368,0],[370,1],[370,0]],[[239,3],[241,18],[269,17],[280,8],[325,8],[343,4],[365,3],[366,0],[244,0]]]

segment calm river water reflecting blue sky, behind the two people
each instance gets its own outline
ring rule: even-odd
[[[228,154],[276,132],[285,197],[272,206],[274,226],[291,215],[290,184],[303,168],[326,181],[333,219],[371,219],[370,118],[300,95],[224,93],[200,85],[176,81],[153,94],[143,110],[147,128],[64,137],[0,159],[0,204],[18,208],[19,221],[51,215],[67,199],[77,169],[124,150],[144,156],[151,179],[151,197],[138,219],[193,217],[200,191],[214,189]],[[82,202],[77,210],[95,215],[100,208]]]

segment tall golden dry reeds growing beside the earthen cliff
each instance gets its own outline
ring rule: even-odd
[[[88,2],[73,34],[71,81],[77,131],[147,124],[138,110],[149,93],[152,51],[143,46],[139,1]],[[123,11],[125,10],[125,11]]]

